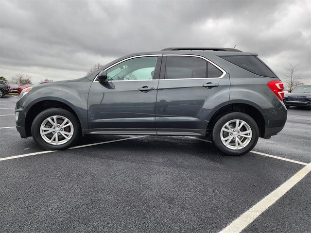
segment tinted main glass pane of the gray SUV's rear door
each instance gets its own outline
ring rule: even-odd
[[[198,57],[167,56],[165,79],[206,78],[207,62]]]

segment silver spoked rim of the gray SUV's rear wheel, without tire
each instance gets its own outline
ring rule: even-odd
[[[251,141],[252,129],[243,120],[230,120],[221,129],[220,138],[226,148],[241,150]]]

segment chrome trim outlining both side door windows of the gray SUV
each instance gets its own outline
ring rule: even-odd
[[[184,57],[199,57],[202,58],[204,60],[206,60],[207,62],[209,62],[210,64],[214,65],[215,67],[217,67],[218,69],[220,69],[220,71],[223,72],[223,74],[219,77],[212,77],[212,78],[191,78],[191,79],[146,79],[146,80],[111,80],[111,81],[107,81],[107,82],[136,82],[136,81],[155,81],[155,80],[197,80],[197,79],[222,79],[224,78],[224,76],[226,75],[225,70],[222,67],[219,67],[218,65],[216,65],[215,63],[213,63],[212,61],[208,60],[206,57],[200,56],[200,55],[191,55],[191,54],[147,54],[147,55],[137,55],[137,56],[133,56],[133,57],[128,57],[125,58],[103,70],[107,70],[110,69],[111,67],[117,66],[118,64],[125,62],[127,60],[133,59],[133,58],[138,58],[138,57],[158,57],[158,56],[184,56]],[[99,83],[99,81],[96,81],[97,79],[97,75],[95,76],[93,82],[97,82]]]

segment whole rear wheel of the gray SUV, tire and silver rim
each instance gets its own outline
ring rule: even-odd
[[[259,138],[255,120],[244,113],[229,113],[215,124],[212,141],[217,149],[228,155],[242,155],[252,150]]]

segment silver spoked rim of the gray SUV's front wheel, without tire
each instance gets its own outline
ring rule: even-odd
[[[72,138],[73,125],[65,116],[49,116],[42,122],[40,134],[47,143],[62,145]]]

